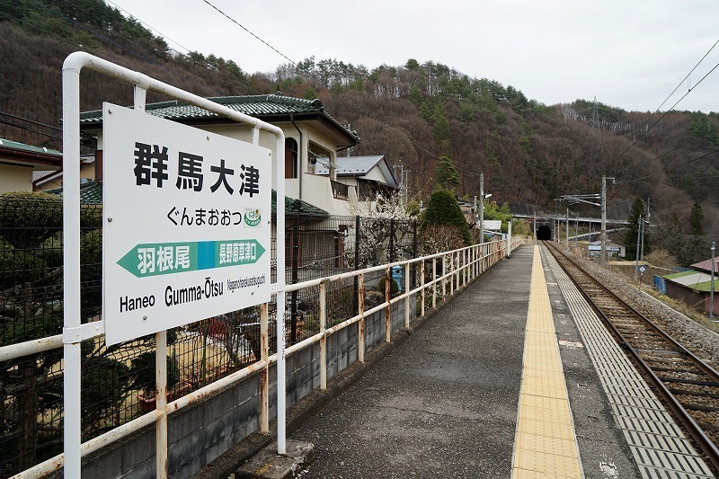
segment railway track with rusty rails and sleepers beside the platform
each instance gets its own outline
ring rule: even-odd
[[[555,244],[545,245],[709,462],[719,469],[719,372],[605,288]]]

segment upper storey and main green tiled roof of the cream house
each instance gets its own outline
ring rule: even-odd
[[[351,206],[358,198],[356,189],[349,189],[337,181],[337,156],[347,148],[357,145],[359,135],[335,120],[324,110],[320,100],[303,100],[281,93],[224,96],[209,100],[267,121],[284,131],[285,192],[289,198],[302,200],[331,215],[348,215],[356,209]],[[165,120],[177,121],[218,135],[252,141],[251,127],[185,102],[151,103],[146,105],[145,110],[148,114]],[[97,137],[97,159],[102,163],[102,111],[82,113],[80,126],[84,133]],[[274,151],[277,147],[275,137],[261,131],[260,146]],[[322,169],[324,172],[320,171]],[[277,186],[275,181],[273,174],[273,188]]]

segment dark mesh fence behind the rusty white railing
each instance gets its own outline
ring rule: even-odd
[[[414,221],[387,218],[288,217],[286,281],[412,258],[416,228]],[[273,253],[275,244],[273,239]],[[90,323],[102,312],[102,205],[81,207],[80,257],[82,322]],[[62,199],[37,193],[0,196],[0,347],[62,333],[62,265]],[[365,288],[384,292],[384,276],[378,276],[366,279]],[[327,325],[355,315],[357,296],[354,279],[333,281]],[[289,293],[285,317],[288,344],[318,333],[319,288]],[[275,318],[271,304],[271,354]],[[260,359],[260,308],[174,328],[167,342],[172,400]],[[81,350],[83,440],[155,409],[155,335],[112,346],[95,338],[83,342]],[[62,452],[61,361],[62,348],[0,361],[0,477]]]

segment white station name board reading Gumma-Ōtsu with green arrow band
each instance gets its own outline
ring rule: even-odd
[[[270,300],[271,151],[103,105],[108,344]]]

